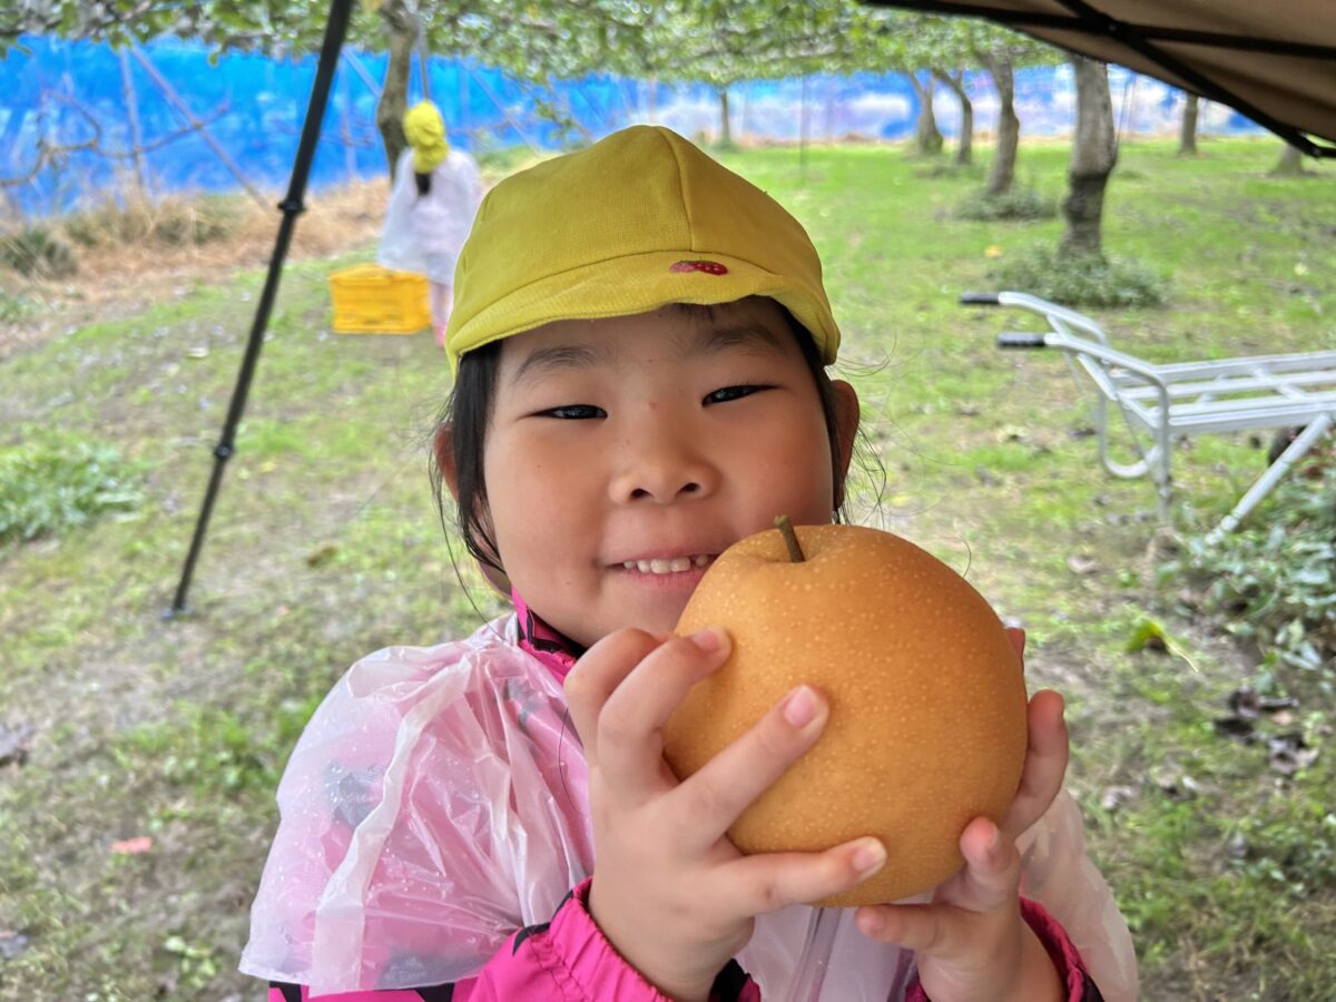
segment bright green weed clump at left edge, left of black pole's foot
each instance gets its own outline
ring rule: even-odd
[[[33,429],[27,441],[0,450],[0,546],[134,510],[142,480],[110,445]]]

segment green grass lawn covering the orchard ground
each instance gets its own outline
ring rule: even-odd
[[[1018,176],[1061,195],[1066,155],[1026,146]],[[1275,140],[1208,140],[1192,160],[1124,144],[1105,244],[1170,294],[1101,313],[1116,345],[1157,361],[1336,345],[1336,171],[1269,179],[1277,156]],[[1104,477],[1062,358],[1002,354],[1003,315],[955,305],[1061,222],[959,220],[986,164],[934,171],[900,148],[724,159],[795,211],[826,262],[840,374],[864,407],[855,514],[966,572],[1027,627],[1033,683],[1067,695],[1069,784],[1144,997],[1329,997],[1331,679],[1288,687],[1288,729],[1320,749],[1299,774],[1220,736],[1212,721],[1257,653],[1157,577],[1153,486]],[[112,445],[143,494],[0,549],[0,728],[33,729],[27,762],[0,767],[0,999],[257,998],[235,963],[306,716],[361,655],[498,609],[430,497],[441,353],[426,334],[329,333],[327,274],[369,255],[287,270],[186,619],[162,612],[262,277],[0,362],[0,449],[49,429]],[[1246,434],[1180,452],[1180,528],[1210,525],[1263,462]],[[1128,649],[1145,617],[1170,651]],[[143,835],[147,852],[111,850]]]

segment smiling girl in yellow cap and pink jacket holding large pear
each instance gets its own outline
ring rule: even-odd
[[[311,719],[242,961],[270,999],[1134,998],[1057,693],[1002,826],[966,827],[965,868],[912,902],[807,904],[874,872],[876,839],[725,836],[819,740],[814,688],[684,783],[663,762],[728,655],[671,635],[709,562],[842,501],[858,401],[799,223],[636,127],[498,184],[458,278],[437,461],[514,613],[363,659]]]

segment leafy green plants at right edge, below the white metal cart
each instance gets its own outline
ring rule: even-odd
[[[1289,665],[1336,681],[1336,465],[1291,474],[1238,532],[1185,552],[1161,574],[1186,570],[1230,633]]]

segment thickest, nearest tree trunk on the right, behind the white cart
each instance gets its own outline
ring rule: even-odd
[[[1074,56],[1071,64],[1077,80],[1077,130],[1067,168],[1067,196],[1062,202],[1067,228],[1061,248],[1063,254],[1100,257],[1104,190],[1118,160],[1109,68],[1083,56]]]

